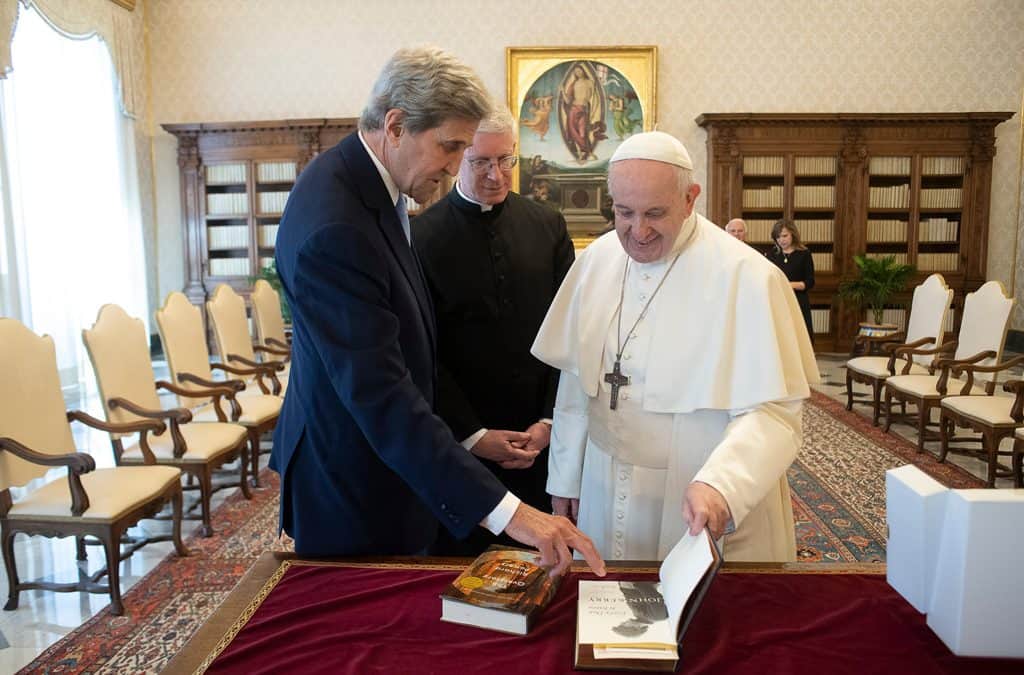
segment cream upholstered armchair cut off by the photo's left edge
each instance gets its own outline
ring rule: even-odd
[[[118,565],[157,539],[136,541],[122,552],[121,538],[128,528],[170,502],[172,534],[161,539],[173,541],[178,555],[188,554],[181,542],[181,472],[172,466],[96,469],[90,455],[77,452],[69,422],[116,433],[137,432],[143,438],[166,426],[159,420],[111,424],[82,412],[66,412],[53,340],[13,319],[0,319],[0,538],[8,588],[4,608],[17,608],[19,593],[38,588],[108,593],[111,611],[123,614]],[[67,476],[13,501],[11,488],[42,478],[52,467],[67,467]],[[92,575],[83,573],[77,583],[22,582],[14,559],[18,533],[75,537],[79,560],[85,559],[85,537],[93,537],[103,545],[106,564]],[[98,583],[103,576],[106,585]]]

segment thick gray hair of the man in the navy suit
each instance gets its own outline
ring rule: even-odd
[[[473,69],[440,47],[409,47],[396,51],[384,66],[359,117],[359,129],[383,128],[391,109],[406,114],[407,131],[419,133],[452,118],[483,119],[490,108],[490,97]]]

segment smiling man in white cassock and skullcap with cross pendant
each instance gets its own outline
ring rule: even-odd
[[[694,213],[686,149],[636,134],[610,160],[615,230],[577,258],[534,343],[561,371],[548,492],[611,559],[689,529],[729,560],[793,560],[785,470],[817,366],[796,296]]]

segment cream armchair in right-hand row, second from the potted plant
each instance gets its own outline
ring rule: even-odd
[[[998,363],[1007,338],[1007,327],[1013,298],[1007,297],[1002,285],[987,282],[974,293],[968,293],[964,301],[964,315],[961,320],[956,340],[935,349],[898,347],[897,357],[919,354],[936,355],[955,349],[952,357],[939,355],[935,362],[934,375],[913,375],[901,372],[886,379],[885,405],[886,426],[889,431],[894,418],[892,402],[895,398],[909,403],[918,410],[918,452],[924,452],[926,436],[934,440],[937,434],[929,429],[931,411],[947,393],[973,395],[991,393],[995,388],[993,373],[977,372],[975,377],[961,380],[951,377],[951,369],[957,366],[991,366]],[[904,370],[907,370],[904,367]],[[929,435],[931,432],[931,435]]]

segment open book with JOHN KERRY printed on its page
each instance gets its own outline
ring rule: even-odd
[[[708,530],[683,535],[660,582],[580,582],[575,668],[675,671],[683,633],[722,564]]]

